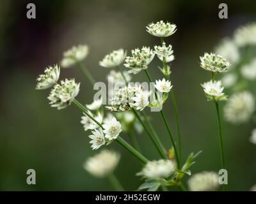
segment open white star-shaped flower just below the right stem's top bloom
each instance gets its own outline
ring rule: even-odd
[[[221,81],[212,82],[211,80],[210,82],[205,82],[201,85],[204,88],[205,94],[207,94],[207,96],[209,96],[211,99],[219,100],[222,98],[221,96],[224,96],[224,87],[221,87]]]

